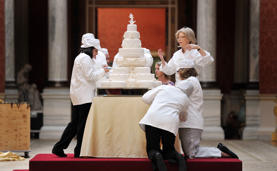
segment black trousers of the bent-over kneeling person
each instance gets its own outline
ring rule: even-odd
[[[161,153],[164,159],[176,159],[178,152],[174,147],[175,135],[173,133],[150,125],[145,125],[145,136],[147,156],[154,162],[153,167],[156,153]],[[160,148],[161,139],[162,149]]]

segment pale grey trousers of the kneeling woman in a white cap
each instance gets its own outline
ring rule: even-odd
[[[190,153],[190,140],[193,140],[196,158],[215,158],[221,157],[221,151],[215,147],[201,147],[199,145],[202,129],[179,128],[181,146],[186,157]]]

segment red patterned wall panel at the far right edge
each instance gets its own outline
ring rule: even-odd
[[[260,0],[259,82],[261,94],[277,93],[276,13],[276,0]]]

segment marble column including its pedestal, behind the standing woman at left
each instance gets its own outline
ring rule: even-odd
[[[48,0],[48,85],[43,90],[40,139],[59,139],[71,120],[67,79],[67,0]]]

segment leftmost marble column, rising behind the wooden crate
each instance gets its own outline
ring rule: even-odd
[[[14,1],[5,0],[5,101],[18,101],[15,80]]]

